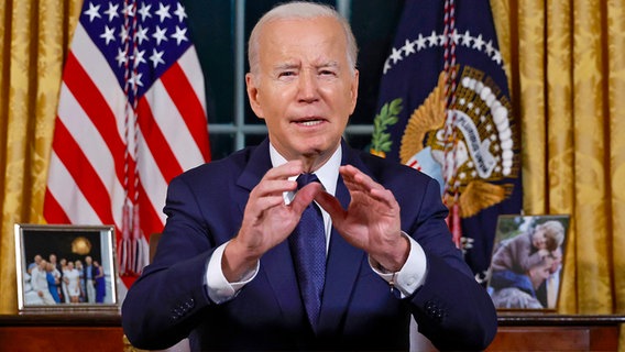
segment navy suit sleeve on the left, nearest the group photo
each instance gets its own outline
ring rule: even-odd
[[[208,260],[217,245],[196,195],[180,178],[167,191],[167,224],[151,265],[130,287],[122,305],[123,331],[141,349],[164,349],[187,337],[199,312],[213,306],[205,288]]]

